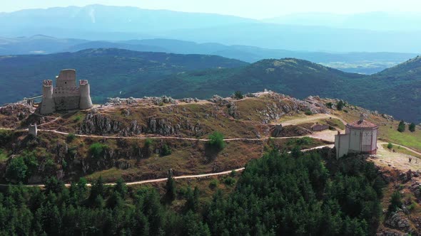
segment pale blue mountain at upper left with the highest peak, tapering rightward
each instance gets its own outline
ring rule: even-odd
[[[3,33],[16,29],[64,29],[77,31],[142,33],[178,28],[201,28],[254,22],[248,18],[218,14],[146,10],[131,6],[90,5],[28,9],[0,14]],[[22,31],[24,33],[25,31]]]

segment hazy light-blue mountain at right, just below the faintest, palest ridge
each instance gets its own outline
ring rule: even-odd
[[[215,42],[286,50],[405,53],[418,53],[421,50],[417,49],[421,45],[421,31],[369,31],[276,23],[240,23],[230,26],[182,29],[163,32],[158,36],[198,43]]]

